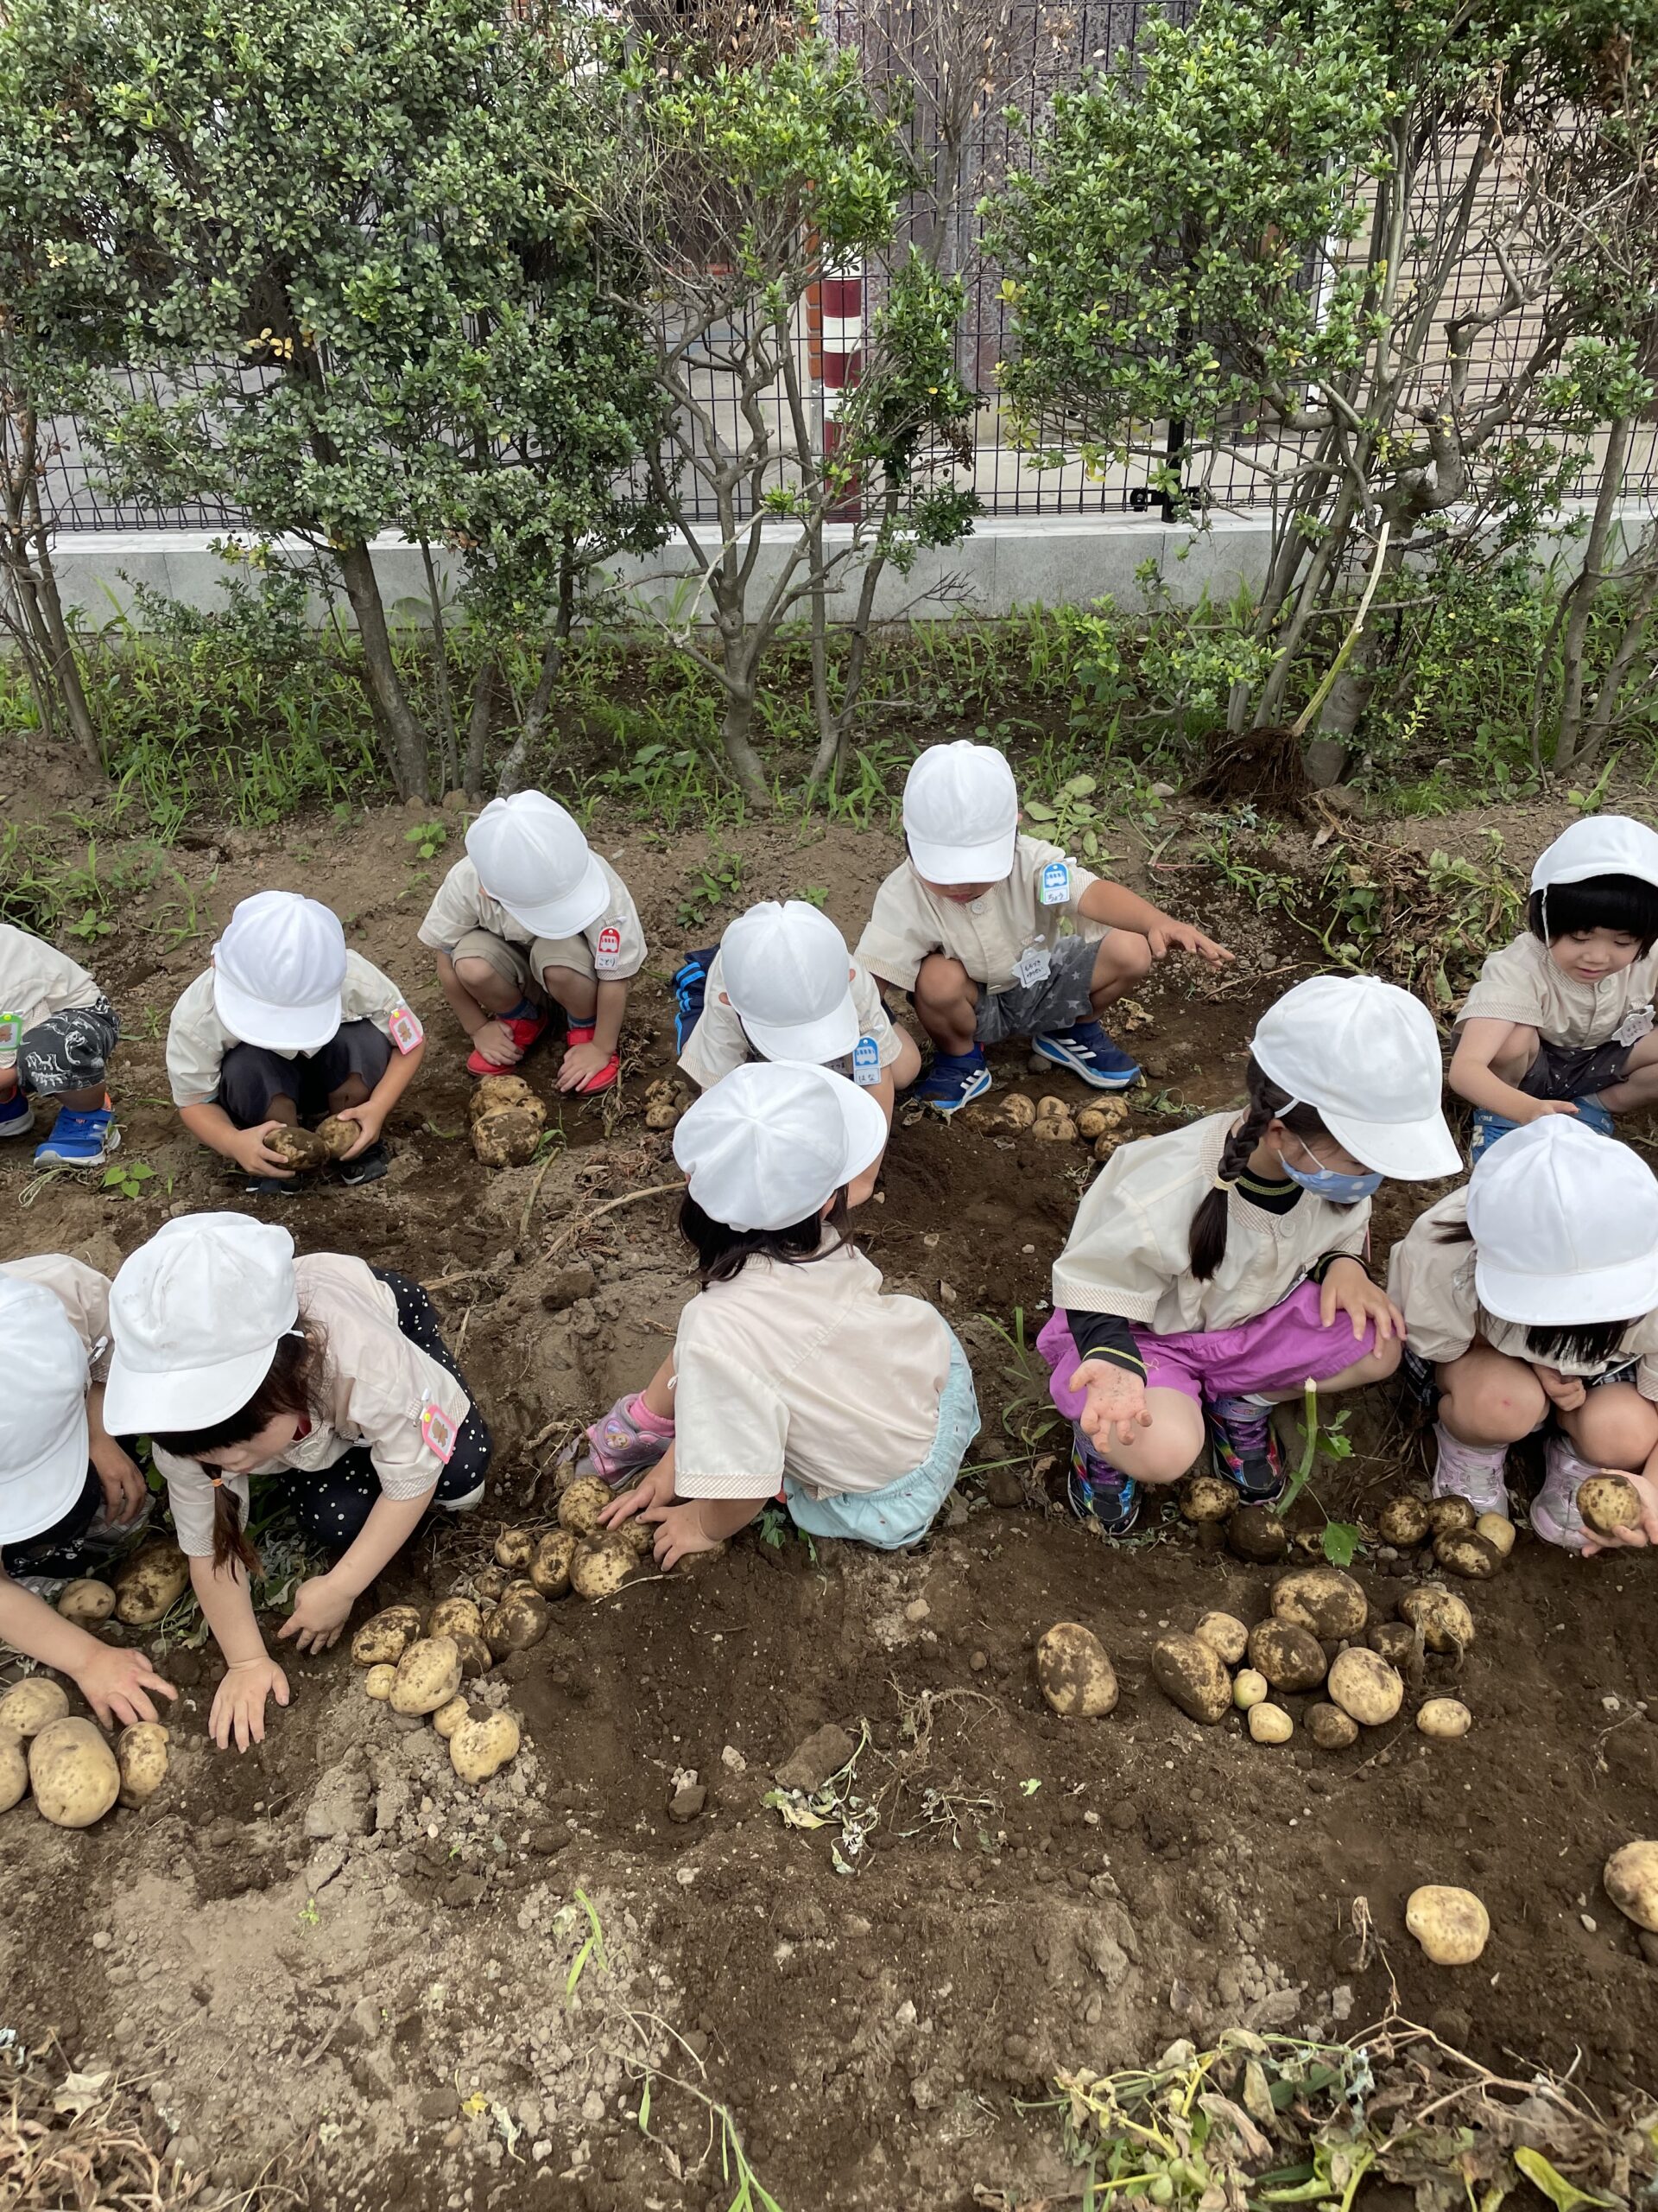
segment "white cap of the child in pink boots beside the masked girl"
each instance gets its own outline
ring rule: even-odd
[[[1499,1321],[1638,1321],[1658,1305],[1658,1179],[1616,1137],[1547,1113],[1468,1181],[1475,1290]]]

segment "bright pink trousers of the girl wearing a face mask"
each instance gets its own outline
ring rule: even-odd
[[[1353,1338],[1353,1323],[1337,1314],[1329,1329],[1318,1321],[1318,1283],[1300,1283],[1282,1305],[1240,1321],[1236,1329],[1180,1329],[1154,1336],[1134,1327],[1134,1343],[1145,1360],[1147,1389],[1178,1389],[1185,1398],[1242,1398],[1258,1391],[1278,1398],[1298,1391],[1311,1376],[1329,1383],[1375,1352],[1375,1327]],[[1037,1338],[1037,1352],[1048,1360],[1048,1394],[1066,1416],[1077,1420],[1083,1391],[1066,1385],[1081,1365],[1081,1352],[1070,1334],[1070,1318],[1054,1312]]]

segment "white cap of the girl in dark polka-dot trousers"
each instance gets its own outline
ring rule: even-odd
[[[122,1433],[239,1413],[298,1321],[294,1239],[248,1214],[181,1214],[122,1263],[104,1420]]]

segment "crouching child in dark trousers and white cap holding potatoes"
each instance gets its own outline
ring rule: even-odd
[[[261,1194],[296,1188],[265,1139],[325,1115],[358,1126],[340,1181],[378,1181],[382,1130],[424,1053],[402,991],[345,949],[338,914],[298,891],[243,898],[168,1022],[179,1119]]]

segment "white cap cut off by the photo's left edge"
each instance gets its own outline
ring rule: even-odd
[[[86,1482],[86,1345],[44,1283],[7,1274],[0,1340],[0,1544],[22,1544],[60,1522]]]

